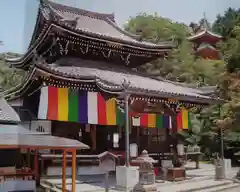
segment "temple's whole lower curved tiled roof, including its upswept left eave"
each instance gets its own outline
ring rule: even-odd
[[[172,82],[163,78],[156,79],[131,70],[126,66],[68,57],[62,58],[54,65],[36,64],[24,83],[6,92],[4,95],[12,99],[16,98],[14,95],[21,90],[28,90],[28,87],[31,86],[31,79],[36,73],[39,75],[46,73],[47,76],[50,75],[53,78],[75,83],[95,82],[99,88],[103,88],[103,91],[114,92],[115,94],[123,91],[122,83],[126,80],[130,82],[130,90],[133,94],[152,95],[159,98],[176,98],[181,101],[195,103],[212,103],[212,101],[218,100],[207,96],[214,93],[216,90],[214,86],[197,88],[189,84]]]

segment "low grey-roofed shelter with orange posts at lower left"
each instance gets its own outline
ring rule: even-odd
[[[89,147],[79,141],[60,138],[50,135],[38,134],[0,134],[0,149],[31,149],[35,150],[34,176],[37,180],[38,175],[38,156],[39,149],[63,150],[62,161],[62,189],[66,190],[66,156],[72,153],[72,192],[76,189],[76,150],[88,149]]]

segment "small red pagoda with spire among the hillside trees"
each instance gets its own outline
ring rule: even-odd
[[[222,39],[222,36],[210,30],[205,14],[202,25],[199,27],[191,27],[193,28],[194,34],[189,37],[188,40],[194,43],[194,52],[196,56],[204,59],[219,59],[220,55],[216,49],[216,44]]]

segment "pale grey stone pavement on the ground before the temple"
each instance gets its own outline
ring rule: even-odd
[[[211,164],[200,164],[200,169],[193,170],[195,165],[188,163],[187,168],[187,179],[179,182],[168,182],[168,181],[156,181],[157,188],[160,192],[213,192],[213,191],[226,191],[231,188],[234,190],[240,187],[240,184],[233,183],[231,180],[238,168],[233,168],[232,171],[227,175],[226,180],[216,181],[214,179],[215,169]],[[45,183],[54,186],[55,191],[61,191],[61,179],[46,179]],[[111,177],[109,180],[110,192],[119,192],[115,188],[115,178]],[[71,179],[67,180],[67,189],[71,191]],[[77,192],[104,192],[104,176],[86,176],[78,177],[76,184]]]

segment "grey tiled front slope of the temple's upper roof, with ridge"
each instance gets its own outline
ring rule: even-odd
[[[130,43],[138,46],[149,48],[173,48],[172,42],[162,42],[154,44],[146,41],[140,41],[137,35],[130,34],[129,32],[121,29],[114,20],[112,14],[94,13],[87,10],[69,7],[48,0],[43,0],[46,5],[44,9],[50,8],[50,12],[58,17],[58,23],[65,27],[70,27],[71,30],[83,32],[88,35],[94,35],[99,38],[107,38],[123,43]],[[49,12],[46,11],[46,12]],[[71,26],[67,21],[76,21],[76,26]]]

